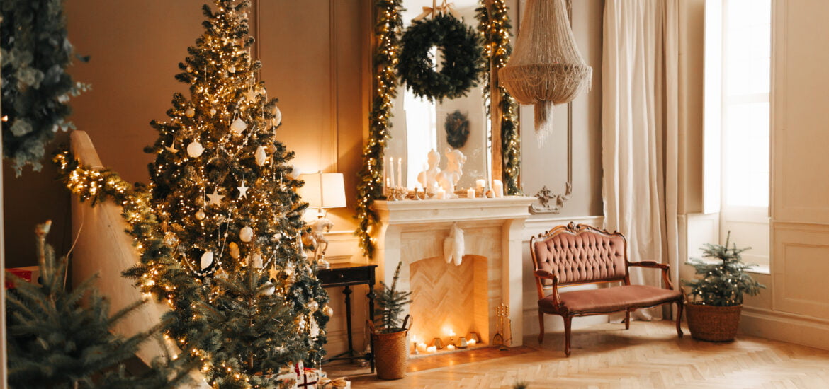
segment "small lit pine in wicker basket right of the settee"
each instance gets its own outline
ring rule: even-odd
[[[691,288],[686,300],[686,319],[694,339],[709,342],[730,342],[734,340],[739,327],[739,315],[743,308],[744,295],[758,295],[765,288],[745,271],[754,265],[742,262],[740,253],[751,247],[729,247],[731,232],[725,239],[725,246],[705,243],[703,257],[719,261],[703,261],[691,258],[686,262],[696,270],[696,280],[683,280]]]

